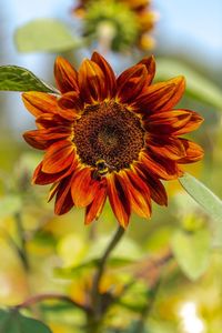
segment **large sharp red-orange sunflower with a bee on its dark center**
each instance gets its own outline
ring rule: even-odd
[[[181,164],[199,161],[203,150],[180,135],[195,130],[202,118],[173,109],[184,92],[184,78],[152,84],[153,57],[118,78],[94,52],[79,71],[58,57],[54,77],[60,94],[26,92],[37,130],[23,134],[44,151],[33,183],[52,183],[54,211],[85,208],[85,223],[98,219],[107,198],[123,228],[131,212],[150,218],[151,200],[168,204],[162,180],[183,174]]]

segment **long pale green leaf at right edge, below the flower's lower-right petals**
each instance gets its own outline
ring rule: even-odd
[[[184,190],[209,213],[213,222],[213,245],[222,245],[222,201],[193,175],[179,179]]]

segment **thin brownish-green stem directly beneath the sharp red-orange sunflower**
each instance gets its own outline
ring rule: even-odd
[[[98,271],[94,274],[94,279],[93,279],[93,283],[92,283],[92,293],[91,293],[94,323],[97,323],[97,322],[99,323],[101,321],[105,310],[108,309],[108,307],[103,306],[103,304],[102,304],[102,297],[101,297],[102,295],[100,294],[100,283],[101,283],[109,256],[110,256],[112,250],[117,246],[117,244],[122,239],[124,231],[125,230],[122,226],[118,228],[118,230],[114,233],[113,238],[111,239],[108,248],[105,249],[103,255],[101,256],[99,264],[98,264]]]

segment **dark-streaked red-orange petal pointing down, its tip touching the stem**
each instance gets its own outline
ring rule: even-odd
[[[117,173],[111,173],[107,178],[108,180],[108,196],[113,210],[113,213],[123,228],[129,224],[131,206],[128,198],[128,191],[125,185],[120,182]]]

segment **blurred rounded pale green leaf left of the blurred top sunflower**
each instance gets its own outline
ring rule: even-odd
[[[38,19],[19,28],[16,44],[20,52],[62,52],[77,48],[79,41],[60,21]]]

